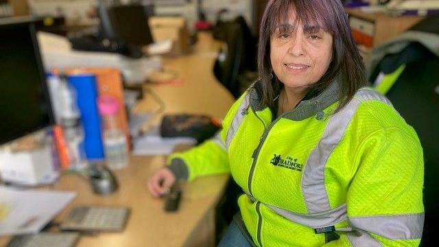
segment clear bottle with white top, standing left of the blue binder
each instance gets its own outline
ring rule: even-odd
[[[67,142],[67,156],[71,169],[86,168],[84,155],[84,131],[82,130],[81,114],[76,104],[76,93],[69,86],[63,76],[58,88],[58,102],[60,104],[60,125],[64,130],[64,139]]]

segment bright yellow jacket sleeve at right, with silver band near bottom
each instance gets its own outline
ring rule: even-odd
[[[326,246],[418,246],[423,233],[423,151],[410,128],[365,139],[348,189],[348,228]]]

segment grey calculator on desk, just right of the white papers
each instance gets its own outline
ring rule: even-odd
[[[75,207],[60,228],[62,231],[123,231],[129,214],[128,207]]]

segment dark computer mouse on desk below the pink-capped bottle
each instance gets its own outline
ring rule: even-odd
[[[90,182],[93,191],[106,195],[117,190],[117,180],[114,174],[104,165],[94,165],[90,169]]]

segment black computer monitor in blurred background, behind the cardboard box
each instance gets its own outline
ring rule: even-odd
[[[148,18],[154,14],[154,5],[116,5],[108,8],[115,38],[132,45],[153,43]]]

